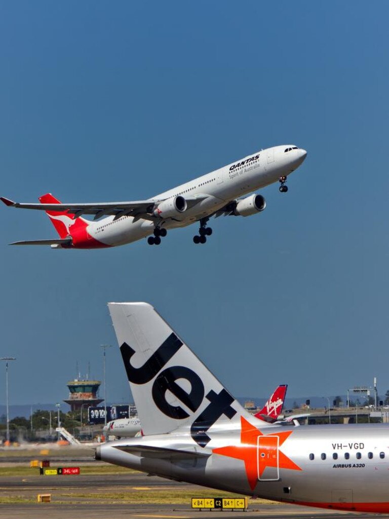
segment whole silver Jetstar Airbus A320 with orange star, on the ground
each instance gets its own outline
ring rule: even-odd
[[[151,305],[108,307],[143,436],[102,444],[97,460],[274,501],[389,512],[387,424],[259,422]]]

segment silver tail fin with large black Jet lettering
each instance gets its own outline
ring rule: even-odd
[[[144,435],[188,427],[204,447],[213,428],[256,421],[151,305],[108,307]]]

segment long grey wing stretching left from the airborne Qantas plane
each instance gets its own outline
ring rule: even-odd
[[[207,195],[198,195],[196,197],[186,197],[188,208],[195,206]],[[115,220],[121,216],[134,216],[136,219],[145,218],[145,220],[155,220],[152,210],[155,204],[161,200],[137,200],[134,202],[90,202],[90,203],[20,203],[0,197],[0,200],[8,207],[18,209],[36,209],[38,211],[69,211],[74,214],[74,218],[83,214],[94,214],[93,220],[98,220],[102,216],[113,215]]]

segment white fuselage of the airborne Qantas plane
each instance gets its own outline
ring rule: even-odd
[[[214,214],[230,201],[252,193],[293,172],[307,154],[303,149],[293,148],[285,153],[288,145],[263,149],[252,155],[200,176],[185,184],[150,198],[150,203],[181,195],[184,198],[200,198],[193,207],[174,218],[161,219],[161,227],[171,229],[185,227],[201,218]],[[132,216],[114,220],[108,216],[91,222],[88,234],[108,247],[123,245],[152,234],[155,222]]]

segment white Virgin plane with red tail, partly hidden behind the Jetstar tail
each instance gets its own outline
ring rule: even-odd
[[[269,400],[263,408],[254,416],[260,420],[275,421],[282,412],[287,385],[282,384],[271,394]],[[142,425],[139,418],[116,418],[110,420],[103,427],[106,436],[116,436],[116,438],[132,438],[141,434]]]

